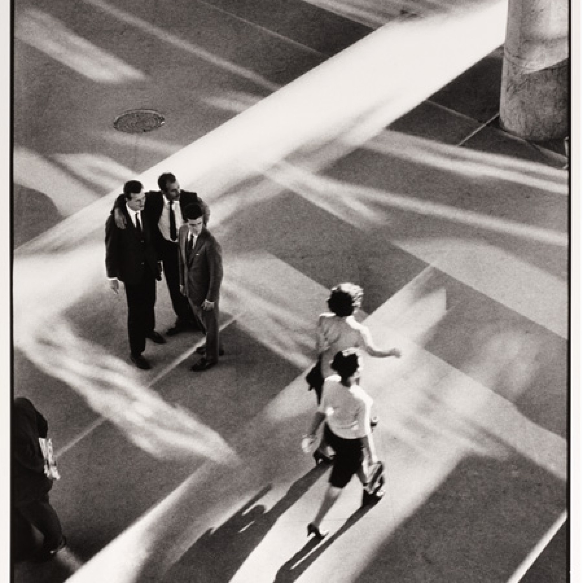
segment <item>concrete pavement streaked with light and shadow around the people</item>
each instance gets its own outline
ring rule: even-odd
[[[398,6],[352,19],[349,3],[286,6],[17,3],[15,394],[49,420],[69,549],[17,563],[16,581],[508,581],[565,508],[566,160],[491,121],[497,44],[469,46],[461,75],[452,57],[442,80],[428,72],[429,100],[386,59],[394,93],[371,81],[367,51],[429,38],[433,17],[453,26],[452,6],[423,22]],[[389,27],[366,37],[383,14]],[[26,36],[53,19],[84,73]],[[87,77],[104,62],[114,81]],[[398,107],[329,99],[359,69]],[[111,128],[140,106],[167,124]],[[161,168],[208,200],[225,252],[227,353],[203,375],[188,371],[196,333],[149,345],[149,373],[130,367],[125,303],[103,279],[114,189],[144,171],[153,187]],[[364,379],[387,496],[359,511],[351,483],[317,546],[305,525],[326,482],[298,445],[314,408],[303,373],[342,280],[364,287],[361,317],[403,358],[367,359]],[[163,331],[174,318],[158,292]],[[564,581],[564,555],[563,529],[535,568]]]

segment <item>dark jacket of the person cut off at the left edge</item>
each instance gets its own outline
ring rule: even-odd
[[[19,397],[12,409],[12,499],[15,504],[39,500],[52,487],[44,474],[44,458],[38,442],[47,437],[47,420],[34,405]]]

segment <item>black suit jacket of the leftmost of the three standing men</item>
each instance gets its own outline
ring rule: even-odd
[[[126,206],[120,210],[125,216],[125,229],[118,229],[113,215],[110,215],[106,222],[107,277],[117,278],[130,285],[136,284],[141,282],[144,269],[149,266],[156,279],[160,279],[157,253],[148,221],[142,219],[142,243]]]

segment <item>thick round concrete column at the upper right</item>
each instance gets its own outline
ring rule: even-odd
[[[500,120],[533,141],[568,133],[568,0],[509,0]]]

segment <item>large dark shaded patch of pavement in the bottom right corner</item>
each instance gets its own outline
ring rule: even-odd
[[[495,438],[494,438],[495,439]],[[566,504],[564,480],[500,445],[501,455],[472,455],[430,493],[385,541],[359,583],[510,581]],[[561,552],[539,581],[566,581]]]

